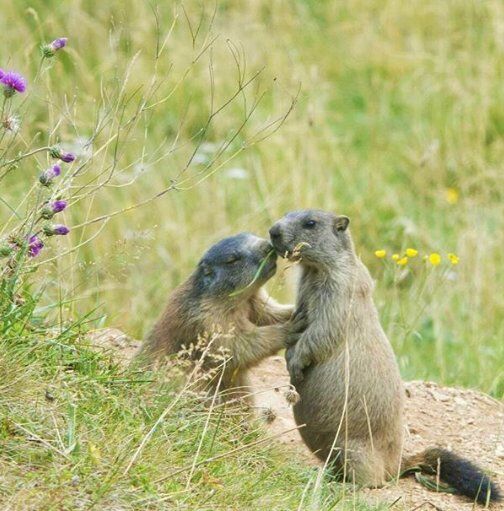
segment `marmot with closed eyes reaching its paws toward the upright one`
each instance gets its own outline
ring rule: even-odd
[[[283,323],[293,311],[262,288],[275,271],[276,254],[269,241],[249,233],[219,241],[173,291],[135,363],[152,365],[204,337],[211,340],[204,368],[222,364],[215,358],[222,349],[229,357],[212,379],[211,390],[220,380],[221,397],[245,396],[247,370],[284,347]],[[199,357],[201,351],[193,355]]]

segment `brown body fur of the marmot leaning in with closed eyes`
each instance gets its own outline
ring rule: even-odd
[[[255,256],[253,251],[272,250],[266,240],[252,237],[241,242],[241,250]],[[219,252],[222,255],[222,251]],[[247,260],[245,270],[224,266],[221,279],[232,280],[225,293],[209,294],[198,289],[200,278],[195,272],[180,285],[168,299],[168,304],[141,348],[137,360],[148,365],[179,353],[183,346],[197,344],[204,337],[211,341],[204,368],[211,370],[222,366],[216,356],[226,352],[225,364],[216,371],[211,391],[220,380],[222,397],[245,396],[250,391],[247,372],[264,358],[284,347],[286,330],[283,326],[292,315],[293,307],[278,304],[261,287],[270,275],[250,285],[251,276],[258,270],[260,257]],[[207,263],[205,263],[207,264]],[[211,263],[213,264],[213,263]],[[247,279],[247,276],[248,277]],[[227,283],[226,283],[227,285]],[[232,291],[241,291],[232,296]],[[197,352],[197,356],[201,352]],[[233,392],[230,392],[234,389]]]

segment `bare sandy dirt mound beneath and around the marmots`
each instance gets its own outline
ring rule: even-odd
[[[94,332],[91,342],[127,362],[138,349],[116,329]],[[270,357],[252,372],[252,386],[259,414],[267,419],[272,434],[295,427],[291,406],[285,393],[289,375],[283,357]],[[504,406],[485,394],[473,390],[440,387],[436,383],[406,383],[405,453],[411,454],[437,445],[453,449],[491,471],[504,489]],[[307,463],[320,462],[306,448],[297,431],[279,437]],[[386,502],[391,508],[407,510],[465,511],[475,509],[472,502],[446,493],[435,493],[421,486],[413,477],[400,479],[380,489],[365,489],[370,502]],[[479,506],[477,506],[479,507]],[[492,509],[504,509],[494,505]]]

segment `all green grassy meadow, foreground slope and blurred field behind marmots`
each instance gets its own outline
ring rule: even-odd
[[[0,241],[33,232],[54,163],[37,149],[77,155],[42,190],[68,201],[70,234],[9,271],[0,259],[2,509],[381,509],[318,481],[259,423],[208,413],[182,378],[124,372],[82,341],[141,338],[210,244],[266,236],[293,209],[351,218],[405,379],[504,396],[500,0],[0,12],[0,68],[27,81],[2,107]],[[282,301],[291,274],[268,285]]]

